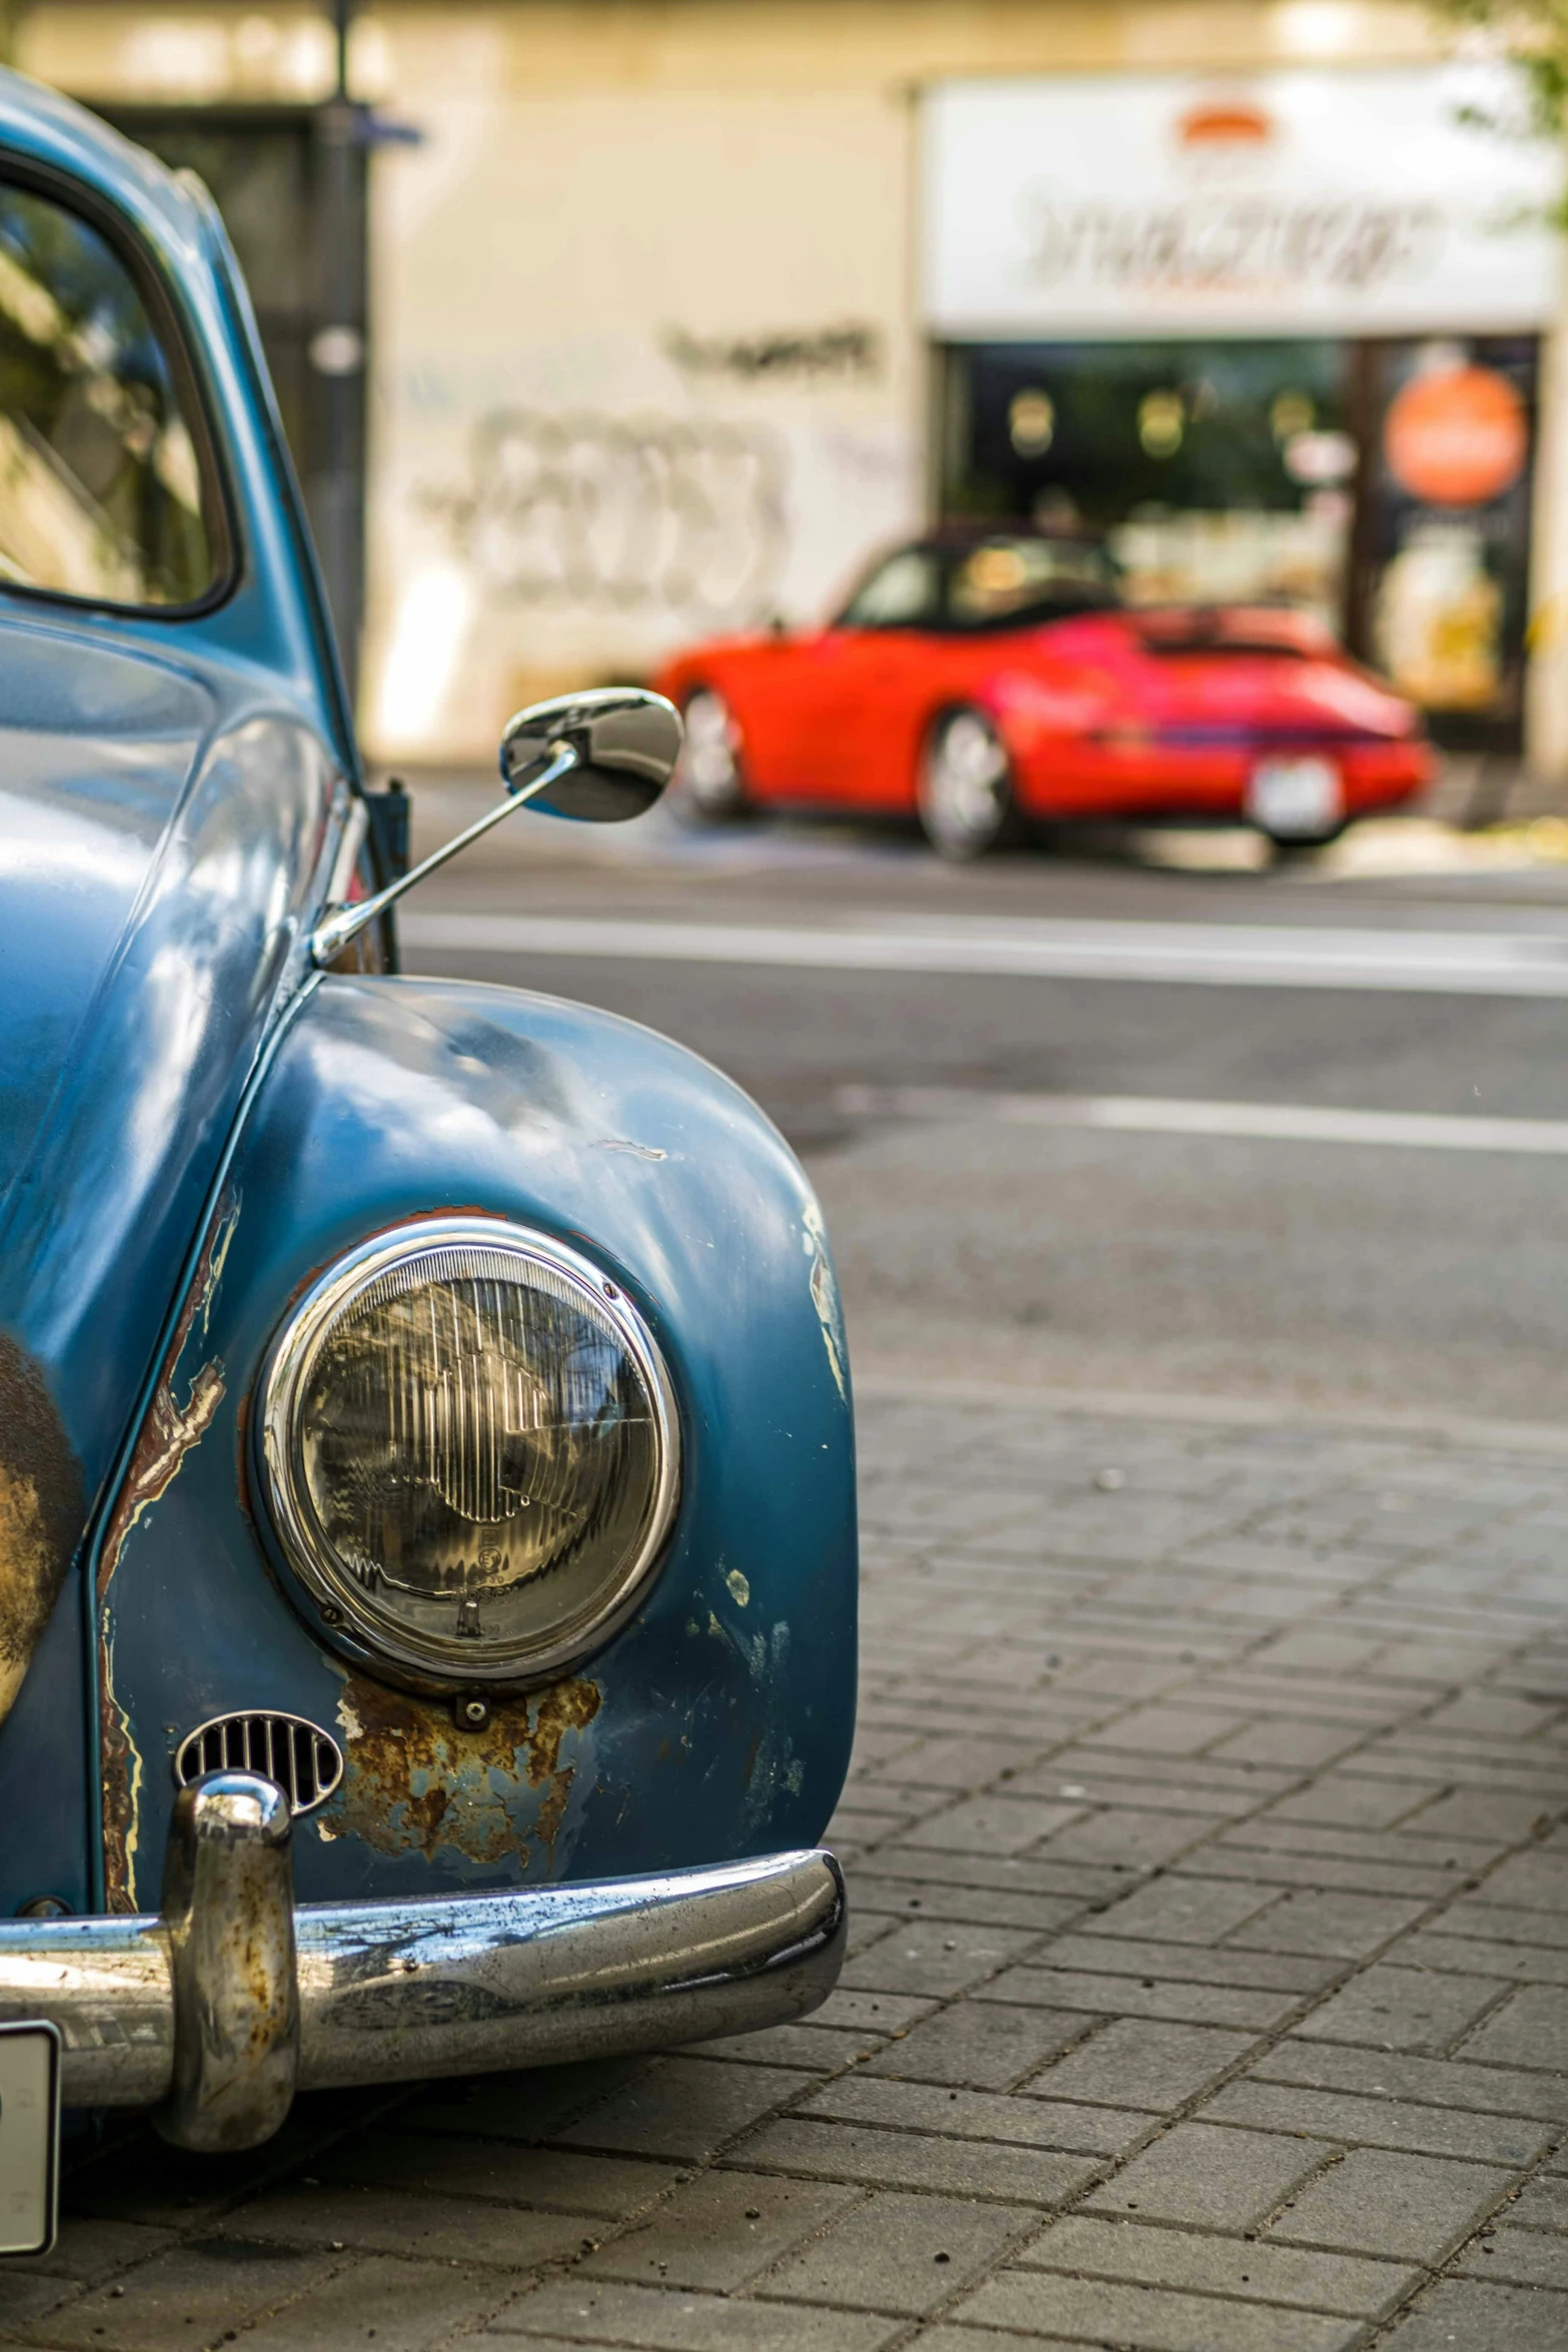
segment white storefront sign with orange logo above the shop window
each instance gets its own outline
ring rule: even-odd
[[[1505,68],[945,82],[924,103],[922,299],[943,339],[1547,325],[1549,143]]]

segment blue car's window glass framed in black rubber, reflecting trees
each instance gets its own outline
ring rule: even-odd
[[[190,397],[113,245],[0,181],[0,583],[193,604],[219,513]]]

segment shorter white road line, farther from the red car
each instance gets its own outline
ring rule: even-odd
[[[999,1120],[1138,1136],[1246,1136],[1265,1143],[1373,1143],[1418,1152],[1568,1155],[1568,1120],[1328,1110],[1319,1103],[1197,1103],[1152,1094],[971,1094],[964,1087],[839,1087],[839,1110],[886,1120]]]

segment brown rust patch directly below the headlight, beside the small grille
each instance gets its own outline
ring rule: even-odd
[[[463,1731],[444,1703],[350,1675],[339,1700],[343,1785],[317,1816],[320,1835],[425,1860],[449,1849],[470,1863],[527,1863],[538,1844],[552,1870],[578,1771],[562,1764],[562,1743],[599,1708],[592,1682],[555,1682],[491,1700],[489,1722]]]

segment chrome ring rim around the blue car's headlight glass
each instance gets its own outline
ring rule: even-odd
[[[654,1501],[635,1555],[621,1566],[609,1595],[562,1628],[552,1639],[512,1646],[505,1656],[463,1642],[425,1644],[400,1639],[386,1616],[376,1613],[355,1590],[353,1573],[336,1557],[315,1505],[306,1494],[303,1463],[294,1444],[296,1414],[322,1345],[353,1310],[362,1291],[393,1268],[433,1256],[440,1249],[468,1247],[515,1256],[545,1268],[583,1294],[583,1303],[604,1317],[628,1350],[651,1411],[656,1442]],[[261,1371],[259,1470],[261,1491],[294,1581],[313,1604],[308,1611],[322,1639],[362,1661],[371,1672],[411,1682],[418,1689],[534,1689],[555,1682],[602,1649],[637,1611],[651,1588],[675,1526],[682,1475],[682,1435],[675,1385],[665,1359],[623,1284],[592,1258],[557,1242],[555,1235],[510,1218],[425,1216],[395,1225],[360,1242],[294,1301],[280,1324]]]

